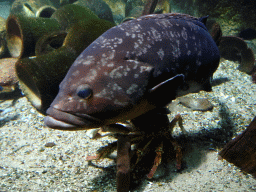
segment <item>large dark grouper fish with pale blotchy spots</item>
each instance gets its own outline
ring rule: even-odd
[[[137,118],[175,98],[211,91],[219,50],[206,17],[150,14],[117,25],[75,60],[46,126],[76,131]]]

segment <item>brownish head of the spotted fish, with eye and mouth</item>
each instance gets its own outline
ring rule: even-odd
[[[97,128],[128,120],[131,111],[133,116],[143,113],[140,109],[137,110],[140,113],[134,114],[134,108],[146,93],[152,66],[135,60],[120,60],[81,68],[79,62],[78,58],[70,68],[46,112],[48,127],[62,130]]]

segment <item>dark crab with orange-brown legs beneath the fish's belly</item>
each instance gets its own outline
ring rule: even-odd
[[[130,178],[137,180],[138,170],[148,170],[145,167],[151,167],[146,176],[152,179],[164,153],[167,158],[176,155],[176,168],[180,171],[182,147],[172,137],[172,132],[177,123],[184,135],[187,135],[187,132],[183,127],[181,115],[177,114],[170,122],[168,113],[167,108],[157,108],[130,121],[90,130],[87,135],[92,139],[112,135],[117,141],[100,148],[96,155],[87,156],[86,160],[107,158],[117,150],[117,191],[129,191]],[[143,158],[148,157],[153,157],[154,160],[143,161]]]

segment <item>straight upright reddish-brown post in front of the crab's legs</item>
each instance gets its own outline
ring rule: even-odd
[[[117,192],[128,192],[130,188],[130,152],[131,139],[127,135],[119,135],[117,140]]]

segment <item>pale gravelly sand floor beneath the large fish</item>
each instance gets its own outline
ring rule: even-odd
[[[251,175],[218,160],[225,143],[256,115],[256,85],[237,66],[222,62],[214,74],[213,91],[189,95],[207,98],[214,105],[212,111],[192,111],[177,101],[169,106],[170,119],[180,113],[189,133],[183,156],[186,168],[177,173],[175,161],[170,161],[159,167],[155,179],[143,179],[134,191],[256,190]],[[43,115],[25,97],[10,94],[1,99],[0,191],[115,191],[114,161],[85,161],[113,138],[91,140],[85,131],[48,129]],[[173,134],[179,138],[180,129]]]

